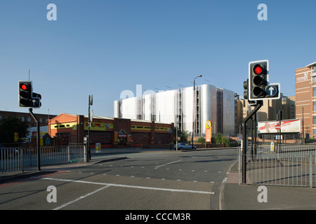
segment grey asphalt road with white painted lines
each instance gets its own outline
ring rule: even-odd
[[[236,149],[93,157],[88,165],[0,183],[4,209],[218,209]],[[54,201],[55,200],[55,201]]]

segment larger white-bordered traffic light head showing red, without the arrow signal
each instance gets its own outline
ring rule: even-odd
[[[265,89],[268,86],[268,60],[249,62],[249,100],[265,98]]]

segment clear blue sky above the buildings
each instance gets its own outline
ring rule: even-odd
[[[48,3],[57,20],[48,21]],[[268,21],[257,18],[260,3]],[[295,69],[316,62],[315,1],[0,0],[0,110],[18,107],[18,80],[41,93],[34,113],[113,116],[124,90],[211,84],[243,94],[248,63],[295,94]]]

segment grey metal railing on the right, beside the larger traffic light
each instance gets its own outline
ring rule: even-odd
[[[261,146],[256,155],[247,151],[246,183],[273,186],[316,186],[316,146]],[[239,172],[242,151],[239,151]]]

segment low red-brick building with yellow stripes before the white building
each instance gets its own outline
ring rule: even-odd
[[[88,116],[62,113],[49,121],[48,134],[62,145],[83,144],[88,135]],[[93,116],[90,136],[91,147],[164,145],[173,139],[173,123]]]

